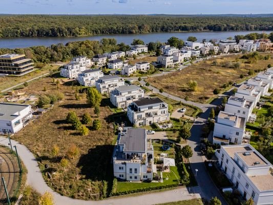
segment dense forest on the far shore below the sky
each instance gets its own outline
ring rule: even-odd
[[[0,15],[0,37],[67,37],[173,31],[273,30],[273,17]]]

